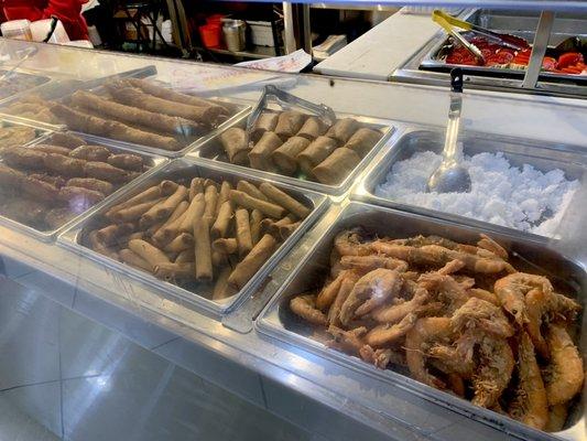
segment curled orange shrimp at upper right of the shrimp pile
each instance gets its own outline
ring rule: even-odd
[[[542,290],[547,295],[553,292],[548,279],[525,272],[506,276],[499,279],[493,288],[503,309],[513,315],[520,326],[528,322],[524,295],[533,288]]]

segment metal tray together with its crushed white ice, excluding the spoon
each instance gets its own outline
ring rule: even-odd
[[[564,234],[567,207],[586,197],[585,149],[478,132],[464,132],[459,140],[470,192],[426,192],[442,161],[444,133],[411,128],[371,164],[352,197],[489,230]]]

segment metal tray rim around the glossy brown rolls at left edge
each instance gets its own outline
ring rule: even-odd
[[[40,138],[36,138],[34,141],[25,144],[25,147],[31,147],[31,146],[35,146],[35,144],[39,144],[39,143],[44,143],[44,142],[46,142],[46,141],[48,141],[51,139],[52,135],[53,135],[53,132],[47,132],[47,133],[41,136]],[[85,141],[93,141],[89,138],[85,137],[84,135],[77,135],[77,136],[83,138]],[[124,147],[119,146],[116,142],[100,141],[98,144],[106,147],[107,149],[109,149],[113,153],[133,153],[133,154],[138,154],[137,152],[130,151],[130,150],[126,149]],[[6,217],[6,216],[2,215],[2,213],[0,213],[0,224],[3,224],[6,226],[12,227],[12,228],[17,228],[19,230],[22,230],[22,232],[24,232],[24,233],[26,233],[26,234],[29,234],[29,235],[37,238],[37,239],[41,239],[43,241],[46,241],[46,243],[52,241],[62,232],[65,232],[67,228],[69,228],[70,226],[75,225],[77,222],[86,218],[87,216],[91,215],[96,211],[100,209],[100,207],[107,205],[112,198],[117,198],[118,195],[123,194],[124,191],[126,191],[124,190],[126,187],[128,187],[129,185],[133,185],[134,182],[140,181],[145,175],[154,173],[160,166],[162,166],[165,162],[167,162],[167,160],[164,159],[164,158],[159,158],[159,157],[155,157],[155,155],[152,155],[152,154],[148,154],[148,153],[142,153],[142,154],[139,153],[139,155],[142,157],[143,160],[149,161],[149,164],[151,165],[151,169],[149,169],[148,171],[142,173],[140,176],[135,178],[133,181],[122,185],[120,189],[115,191],[112,194],[107,195],[104,201],[101,201],[98,204],[89,207],[88,209],[86,209],[85,212],[80,213],[79,215],[73,217],[70,220],[68,220],[67,223],[63,224],[58,228],[43,232],[43,230],[33,228],[33,227],[31,227],[29,225],[21,224],[20,222],[13,220],[10,217]],[[0,162],[2,162],[1,159],[0,159]]]

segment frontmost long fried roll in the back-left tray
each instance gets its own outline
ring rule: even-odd
[[[163,150],[177,151],[182,144],[174,138],[134,129],[118,121],[97,118],[62,104],[52,104],[51,111],[65,121],[69,129],[142,146],[155,147]]]

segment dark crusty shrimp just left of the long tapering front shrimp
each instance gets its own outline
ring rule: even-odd
[[[471,402],[491,407],[510,383],[513,353],[504,338],[486,335],[479,345],[479,366],[472,376],[474,397]]]

